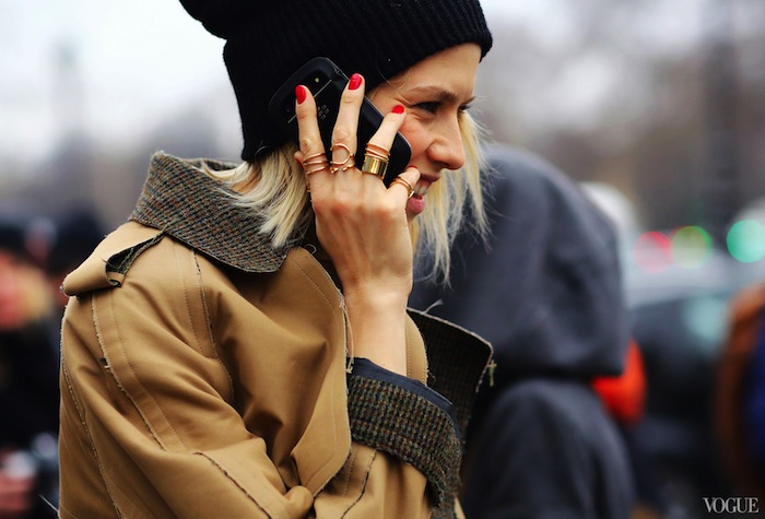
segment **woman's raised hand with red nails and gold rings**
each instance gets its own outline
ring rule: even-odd
[[[343,92],[332,150],[323,149],[310,92],[298,86],[295,93],[301,135],[301,151],[295,158],[304,164],[308,175],[317,236],[343,285],[353,354],[405,373],[403,323],[413,267],[405,213],[409,189],[399,182],[386,188],[380,177],[355,167],[353,155],[364,153],[356,150],[364,98],[361,75],[354,74]],[[385,117],[370,144],[390,149],[405,117],[402,108]],[[320,158],[316,157],[321,153],[331,162],[327,167],[317,164]],[[420,173],[410,167],[401,178],[414,186]]]

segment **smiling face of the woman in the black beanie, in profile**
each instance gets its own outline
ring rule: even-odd
[[[370,94],[382,114],[396,105],[407,108],[400,132],[412,146],[410,165],[421,173],[415,194],[407,205],[412,216],[424,210],[423,197],[442,172],[459,169],[464,164],[459,120],[473,99],[480,61],[478,45],[451,47],[420,61]]]

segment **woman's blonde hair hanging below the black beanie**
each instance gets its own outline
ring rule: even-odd
[[[470,215],[471,229],[486,234],[487,223],[481,192],[483,155],[480,128],[473,118],[460,115],[460,133],[466,152],[464,166],[444,175],[427,192],[425,211],[411,225],[412,241],[425,278],[448,280],[451,268],[449,249],[457,231]],[[307,194],[305,174],[294,160],[297,146],[285,143],[254,162],[234,169],[207,173],[225,181],[238,192],[236,203],[251,208],[263,216],[260,232],[271,237],[274,247],[284,247],[298,238],[310,223],[314,212]]]

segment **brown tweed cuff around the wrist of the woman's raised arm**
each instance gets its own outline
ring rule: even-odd
[[[457,492],[462,446],[451,403],[411,378],[356,358],[348,378],[351,436],[412,464],[435,507]]]

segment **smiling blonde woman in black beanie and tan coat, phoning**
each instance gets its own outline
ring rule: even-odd
[[[446,270],[446,213],[479,187],[474,157],[444,173],[476,149],[479,3],[184,5],[227,40],[245,162],[155,155],[66,280],[61,517],[454,517],[491,349],[407,298],[412,229]],[[299,149],[267,113],[315,56],[353,72],[330,150],[305,86]],[[352,160],[365,92],[387,114],[373,158],[398,130],[412,148],[389,188]]]

